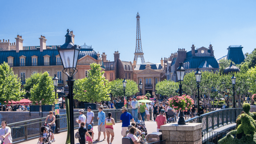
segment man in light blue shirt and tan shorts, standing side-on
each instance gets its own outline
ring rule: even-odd
[[[95,140],[95,141],[99,141],[100,140],[101,132],[103,132],[103,134],[104,134],[104,139],[103,140],[106,139],[106,130],[105,130],[106,114],[102,110],[103,110],[103,107],[100,106],[99,107],[99,111],[100,112],[98,113],[98,117],[97,117],[97,119],[98,119],[98,132],[99,132],[99,134],[98,134],[98,139]]]

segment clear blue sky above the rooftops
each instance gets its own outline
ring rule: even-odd
[[[256,48],[256,1],[254,0],[81,0],[1,2],[0,39],[23,46],[65,43],[67,28],[75,44],[92,45],[105,52],[107,60],[133,61],[136,47],[136,14],[140,14],[142,50],[145,61],[160,63],[178,48],[209,47],[216,59],[228,53],[229,45],[242,45],[243,52]],[[138,60],[141,63],[141,60]]]

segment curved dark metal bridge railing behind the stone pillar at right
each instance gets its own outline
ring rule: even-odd
[[[200,116],[203,123],[202,131],[213,131],[224,125],[236,123],[236,117],[242,111],[243,108],[226,108],[203,114]],[[186,120],[186,123],[199,123],[199,116]]]

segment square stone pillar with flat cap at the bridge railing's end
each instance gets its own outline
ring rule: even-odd
[[[202,123],[165,124],[160,127],[165,144],[202,144]]]

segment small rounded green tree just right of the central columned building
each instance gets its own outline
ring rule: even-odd
[[[161,95],[174,96],[178,95],[176,91],[179,89],[179,84],[173,81],[164,80],[156,84],[156,93]]]

